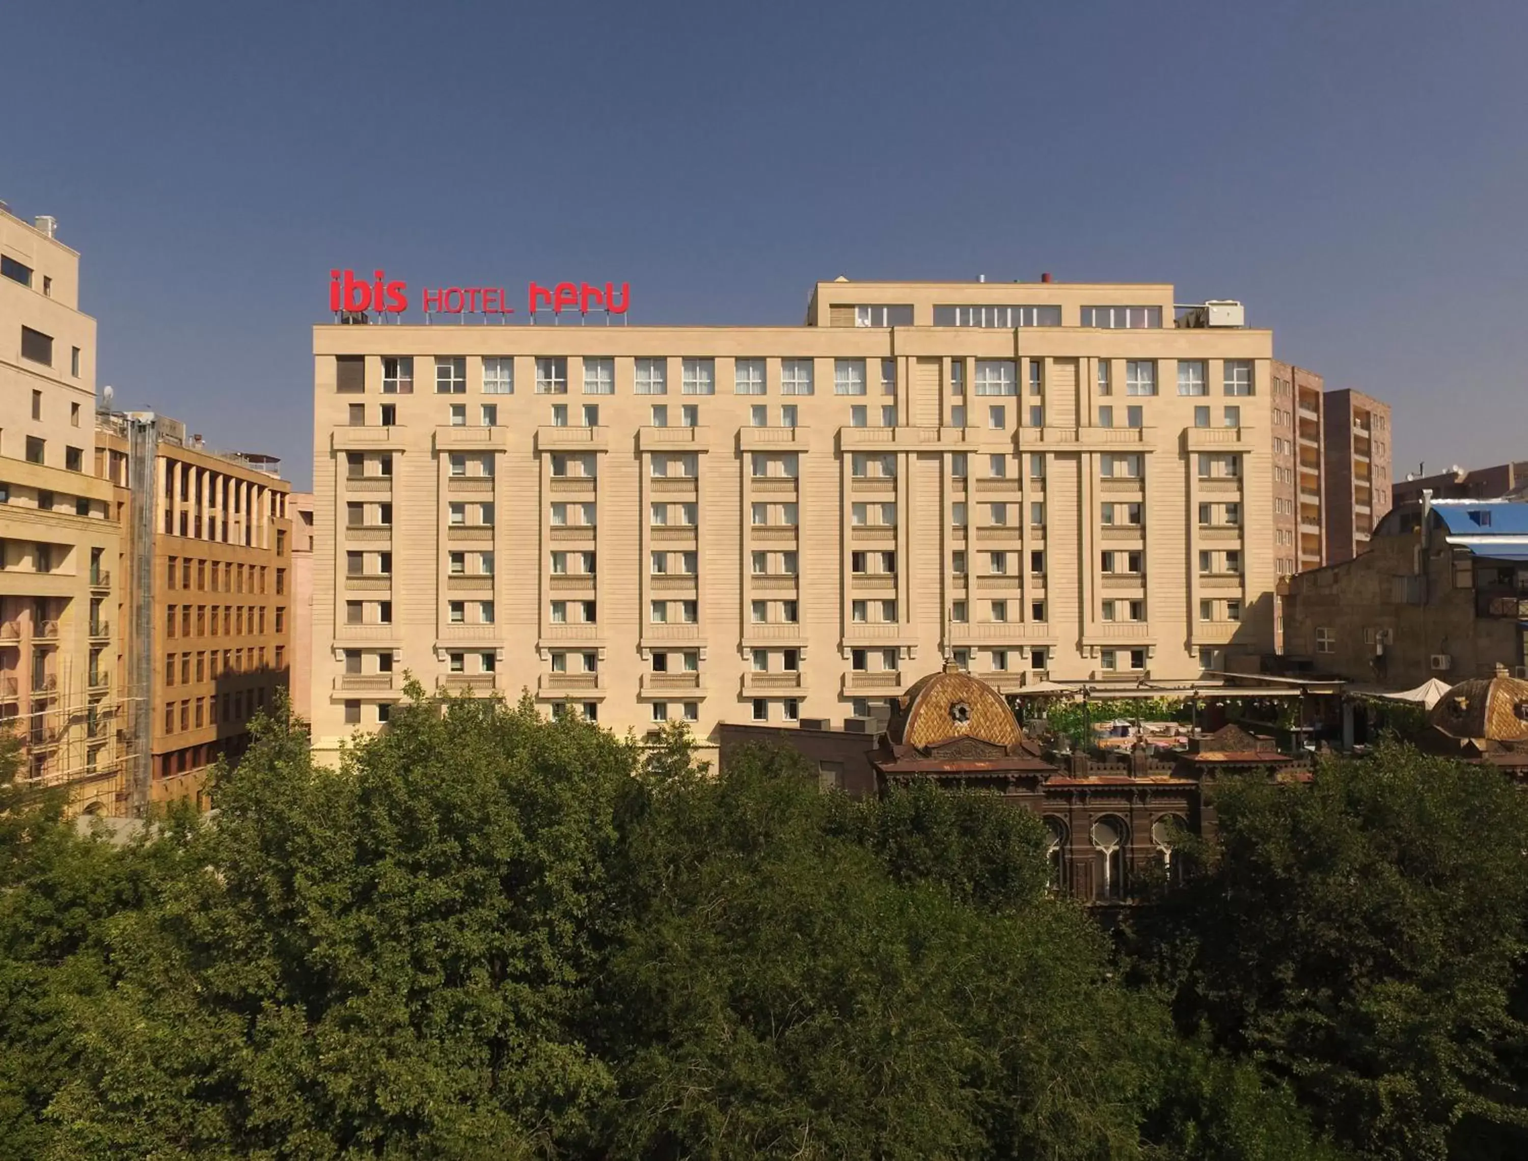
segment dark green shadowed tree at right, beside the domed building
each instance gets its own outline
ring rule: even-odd
[[[1386,744],[1308,787],[1232,781],[1216,808],[1218,842],[1149,933],[1184,1027],[1262,1062],[1366,1156],[1442,1158],[1467,1115],[1520,1120],[1500,1049],[1523,1033],[1522,794]]]

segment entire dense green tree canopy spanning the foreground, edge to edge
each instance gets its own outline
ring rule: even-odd
[[[1222,787],[1125,959],[992,797],[414,692],[338,770],[261,724],[212,820],[125,845],[0,790],[0,1158],[1299,1161],[1340,1155],[1311,1117],[1372,1156],[1510,1120],[1490,771]]]

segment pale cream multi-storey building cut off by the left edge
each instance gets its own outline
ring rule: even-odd
[[[0,205],[0,720],[23,778],[99,811],[122,768],[119,529],[92,475],[96,324],[55,234]]]

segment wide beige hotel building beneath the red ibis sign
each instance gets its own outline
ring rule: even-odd
[[[944,655],[1018,690],[1271,649],[1271,335],[1238,304],[839,280],[802,327],[344,318],[313,330],[319,752],[405,672],[711,738]]]

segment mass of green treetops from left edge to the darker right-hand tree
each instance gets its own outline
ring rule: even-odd
[[[125,843],[0,778],[0,1158],[1331,1156],[1028,814],[411,694]]]

